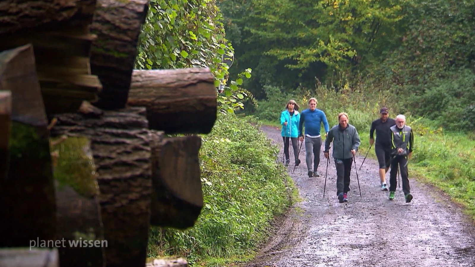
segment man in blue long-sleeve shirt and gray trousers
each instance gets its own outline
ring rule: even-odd
[[[300,141],[304,141],[303,125],[305,124],[305,163],[307,163],[308,177],[320,176],[317,172],[320,164],[320,151],[322,148],[322,136],[320,128],[325,127],[325,136],[330,131],[325,113],[317,109],[317,99],[312,97],[308,100],[308,109],[300,114],[300,123],[298,125],[298,134]],[[312,169],[312,154],[314,155],[314,168]]]

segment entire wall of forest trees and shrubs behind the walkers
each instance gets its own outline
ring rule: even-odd
[[[475,129],[473,0],[218,0],[230,72],[266,98],[324,84],[394,97],[400,112]],[[371,101],[371,99],[369,99]]]

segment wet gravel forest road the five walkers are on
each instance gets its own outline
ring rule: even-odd
[[[261,129],[281,146],[282,159],[280,129]],[[303,201],[278,223],[258,257],[243,266],[475,267],[473,222],[445,195],[416,181],[411,173],[412,202],[405,202],[401,188],[397,189],[395,200],[388,200],[388,191],[380,190],[377,161],[367,158],[358,170],[362,198],[353,165],[350,201],[339,203],[332,161],[323,198],[323,146],[318,168],[321,177],[308,178],[304,147],[299,158],[302,163],[295,173],[292,174],[293,160],[288,170]],[[358,168],[363,158],[364,155],[357,154]]]

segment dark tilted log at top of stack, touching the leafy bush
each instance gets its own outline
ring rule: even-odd
[[[148,0],[98,0],[91,31],[97,34],[91,70],[103,89],[94,105],[123,108],[137,56],[137,42],[148,11]]]

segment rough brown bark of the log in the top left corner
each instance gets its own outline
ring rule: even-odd
[[[0,35],[91,22],[96,0],[2,0]],[[77,24],[78,22],[74,22]]]

